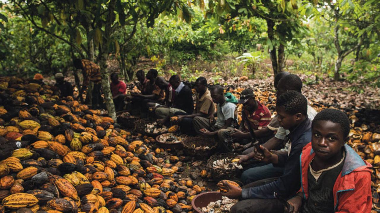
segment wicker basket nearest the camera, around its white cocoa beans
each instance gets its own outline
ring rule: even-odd
[[[212,155],[209,160],[207,160],[207,169],[211,172],[212,179],[214,181],[220,180],[233,180],[236,174],[241,173],[240,169],[221,169],[215,168],[213,163],[214,161],[228,158],[229,160],[233,160],[236,157],[236,153],[222,153],[219,155]]]

